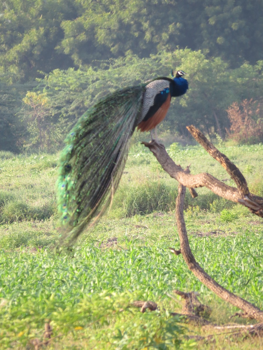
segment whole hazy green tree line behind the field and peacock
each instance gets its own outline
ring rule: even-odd
[[[233,116],[244,121],[247,100],[257,137],[235,140],[263,141],[262,7],[259,0],[2,2],[0,148],[54,151],[106,93],[171,68],[188,73],[190,90],[173,102],[163,130],[186,136],[193,123],[210,137],[242,134]]]

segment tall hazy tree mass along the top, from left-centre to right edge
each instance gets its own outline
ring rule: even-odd
[[[78,66],[94,66],[128,50],[142,58],[186,46],[221,57],[232,68],[262,57],[259,0],[86,0],[79,5],[77,18],[62,22],[60,46]]]

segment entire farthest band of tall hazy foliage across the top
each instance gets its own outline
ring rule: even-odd
[[[128,50],[147,57],[201,48],[232,66],[255,64],[263,54],[258,0],[7,0],[0,12],[0,66],[26,80]]]

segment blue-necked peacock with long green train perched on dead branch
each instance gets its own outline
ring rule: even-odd
[[[151,131],[153,140],[171,97],[186,93],[186,73],[171,74],[109,94],[83,114],[65,139],[56,183],[63,244],[73,244],[112,203],[135,128]]]

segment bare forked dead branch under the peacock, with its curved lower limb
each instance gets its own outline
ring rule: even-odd
[[[213,290],[221,299],[230,302],[232,305],[244,311],[244,314],[250,318],[254,318],[263,322],[263,311],[249,303],[248,301],[230,293],[227,289],[220,286],[213,280],[196,262],[193,253],[191,252],[189,241],[187,237],[186,225],[183,216],[183,203],[186,193],[186,187],[197,188],[207,187],[215,194],[238,202],[249,208],[254,214],[263,217],[263,198],[255,196],[249,192],[247,182],[240,172],[240,170],[218,149],[215,148],[210,141],[193,125],[187,127],[193,137],[205,148],[205,150],[213,156],[225,168],[227,173],[235,181],[237,188],[225,185],[223,182],[216,179],[208,173],[201,173],[197,175],[189,174],[189,167],[183,170],[180,165],[176,165],[169,157],[163,145],[153,141],[150,143],[143,142],[143,144],[150,149],[159,161],[163,169],[174,179],[179,182],[178,196],[176,199],[176,221],[177,229],[180,237],[180,251],[170,248],[175,254],[182,253],[184,260],[190,271],[209,289]]]

